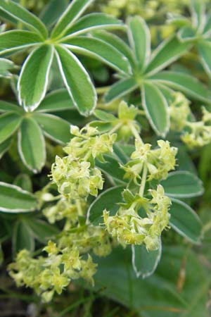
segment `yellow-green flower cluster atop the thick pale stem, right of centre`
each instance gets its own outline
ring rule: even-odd
[[[141,179],[144,166],[148,170],[148,180],[162,180],[167,178],[170,170],[174,169],[177,148],[170,147],[170,142],[158,140],[158,149],[151,149],[151,144],[143,144],[136,140],[136,150],[132,153],[132,161],[122,166],[125,178],[137,182]]]

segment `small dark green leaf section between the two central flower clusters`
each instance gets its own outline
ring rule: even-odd
[[[103,158],[106,160],[105,163],[101,161],[96,161],[96,166],[102,170],[103,173],[106,173],[114,180],[118,180],[124,183],[124,170],[120,168],[120,162],[117,161],[112,156],[103,155]]]

